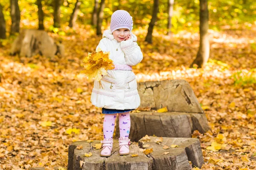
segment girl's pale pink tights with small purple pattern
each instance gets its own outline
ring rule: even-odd
[[[130,112],[105,114],[103,122],[103,135],[105,138],[113,138],[116,116],[119,116],[120,137],[129,137],[131,128]]]

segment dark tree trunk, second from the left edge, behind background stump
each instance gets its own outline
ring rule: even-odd
[[[20,8],[18,0],[10,0],[10,4],[12,18],[11,34],[14,34],[15,32],[20,32]]]

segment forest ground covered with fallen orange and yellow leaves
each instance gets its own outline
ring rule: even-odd
[[[67,167],[68,145],[102,139],[104,115],[90,103],[93,82],[82,77],[82,59],[101,37],[92,30],[57,36],[66,56],[10,56],[0,48],[0,170]],[[256,170],[256,27],[209,30],[210,59],[204,68],[189,68],[198,34],[172,37],[135,30],[143,61],[134,66],[137,81],[185,79],[204,109],[211,130],[195,131],[203,170]]]

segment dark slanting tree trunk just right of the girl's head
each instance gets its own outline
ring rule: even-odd
[[[146,42],[148,43],[152,43],[152,33],[153,33],[153,28],[154,28],[154,24],[157,21],[157,13],[158,13],[158,6],[159,6],[159,0],[154,0],[154,8],[153,8],[153,14],[152,14],[152,18],[151,21],[149,23],[148,26],[148,34],[146,36]]]

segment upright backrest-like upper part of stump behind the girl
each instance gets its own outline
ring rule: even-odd
[[[139,109],[167,107],[170,112],[204,113],[186,80],[140,82],[137,89]]]

